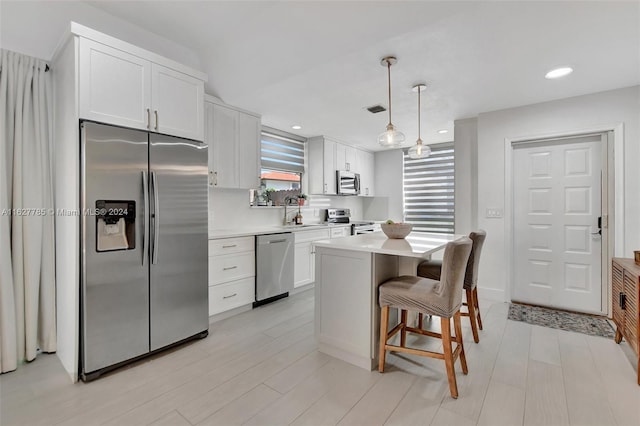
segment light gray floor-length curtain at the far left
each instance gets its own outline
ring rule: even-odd
[[[0,372],[56,350],[52,88],[46,63],[0,50]]]

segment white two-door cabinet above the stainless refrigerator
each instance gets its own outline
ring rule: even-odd
[[[118,48],[80,37],[80,118],[202,140],[202,78],[128,53],[126,43],[111,40]]]

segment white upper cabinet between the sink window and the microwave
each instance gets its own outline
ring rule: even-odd
[[[307,140],[309,193],[336,194],[336,145],[324,136]]]

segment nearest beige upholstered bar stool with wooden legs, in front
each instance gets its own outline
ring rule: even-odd
[[[413,355],[443,359],[447,369],[449,390],[453,398],[458,397],[458,385],[454,370],[456,359],[460,358],[462,372],[467,374],[467,360],[462,344],[460,306],[465,268],[471,253],[471,240],[463,237],[447,244],[444,250],[442,279],[440,281],[416,276],[403,275],[391,278],[379,287],[380,296],[380,353],[378,371],[384,372],[387,350]],[[389,308],[401,310],[400,323],[391,331],[389,328]],[[407,311],[416,311],[440,317],[442,333],[422,330],[407,325]],[[453,318],[455,336],[451,335]],[[400,331],[400,346],[388,344],[388,340]],[[407,332],[442,339],[444,353],[414,349],[406,346]],[[451,342],[456,342],[455,350]]]

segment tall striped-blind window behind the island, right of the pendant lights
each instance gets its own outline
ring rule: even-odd
[[[454,232],[453,142],[429,145],[431,155],[412,160],[404,151],[404,221],[414,231]]]

